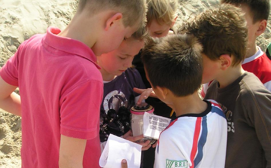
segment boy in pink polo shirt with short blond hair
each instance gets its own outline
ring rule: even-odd
[[[0,108],[22,116],[22,167],[99,167],[103,83],[95,55],[144,25],[145,10],[145,0],[80,0],[64,31],[34,35],[1,68]]]

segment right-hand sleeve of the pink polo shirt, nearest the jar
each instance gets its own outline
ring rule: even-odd
[[[80,139],[98,135],[103,84],[88,80],[60,99],[60,133]]]

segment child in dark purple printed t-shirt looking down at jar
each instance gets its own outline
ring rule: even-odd
[[[139,94],[133,88],[145,89],[139,72],[131,68],[132,60],[144,45],[148,32],[141,27],[131,38],[124,39],[119,48],[98,57],[104,83],[104,95],[100,107],[100,142],[104,149],[109,134],[123,136],[130,141],[142,139],[130,134],[130,108],[137,102]],[[125,134],[125,135],[124,135]],[[149,149],[149,141],[141,144]]]

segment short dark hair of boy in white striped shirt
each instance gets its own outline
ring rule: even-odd
[[[141,58],[154,88],[168,88],[175,96],[198,90],[202,79],[202,47],[192,35],[149,38]]]

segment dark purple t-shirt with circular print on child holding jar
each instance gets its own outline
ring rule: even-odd
[[[128,68],[120,76],[104,83],[100,108],[100,141],[107,141],[110,133],[121,136],[130,130],[130,108],[139,94],[133,88],[146,88],[139,72]]]

